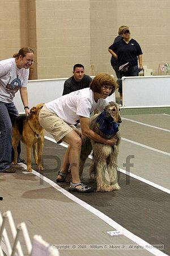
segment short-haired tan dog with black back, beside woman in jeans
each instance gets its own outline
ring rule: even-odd
[[[32,172],[31,166],[31,148],[33,148],[33,156],[38,170],[43,170],[41,165],[41,156],[44,146],[44,129],[39,123],[39,112],[44,103],[37,104],[31,108],[29,115],[20,115],[16,117],[14,126],[12,127],[12,147],[14,148],[14,162],[17,163],[18,152],[17,146],[20,141],[26,145],[27,151],[27,171]]]

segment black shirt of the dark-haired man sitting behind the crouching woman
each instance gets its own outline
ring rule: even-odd
[[[89,87],[92,79],[90,76],[84,75],[83,79],[79,82],[75,81],[74,76],[67,79],[63,86],[62,95],[74,92],[75,90],[80,90]]]

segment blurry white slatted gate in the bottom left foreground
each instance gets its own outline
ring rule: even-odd
[[[10,236],[12,235],[13,242],[11,245],[6,225],[10,226]],[[25,247],[28,256],[59,256],[57,249],[53,249],[49,243],[45,242],[41,236],[33,236],[33,243],[31,242],[24,222],[15,226],[14,219],[10,210],[1,214],[0,211],[0,256],[24,256],[22,245],[20,243],[21,233],[24,238]]]

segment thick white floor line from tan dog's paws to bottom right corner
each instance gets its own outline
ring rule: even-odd
[[[66,146],[66,145],[65,145]],[[25,170],[27,170],[27,166],[23,163],[20,163],[20,166],[22,166]],[[70,200],[73,200],[75,203],[79,204],[89,212],[95,214],[95,216],[99,217],[101,220],[103,220],[105,223],[110,225],[112,228],[118,230],[122,234],[124,234],[125,237],[129,238],[131,241],[137,243],[140,246],[143,246],[145,250],[149,251],[150,253],[156,255],[156,256],[168,256],[167,254],[163,253],[162,251],[159,251],[156,248],[152,248],[152,245],[150,243],[147,243],[145,240],[141,239],[140,237],[135,236],[135,234],[131,233],[128,229],[125,229],[120,224],[118,224],[116,221],[112,220],[112,218],[108,217],[104,213],[100,212],[100,210],[97,210],[96,208],[92,207],[91,205],[87,204],[86,202],[78,199],[76,196],[72,195],[70,192],[66,191],[65,189],[59,187],[54,181],[48,179],[45,176],[42,176],[39,174],[39,172],[36,172],[32,169],[32,174],[36,175],[46,183],[50,184],[53,188],[60,191],[63,195],[67,196]]]

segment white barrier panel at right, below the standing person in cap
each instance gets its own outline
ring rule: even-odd
[[[122,77],[124,108],[170,106],[170,76]]]

